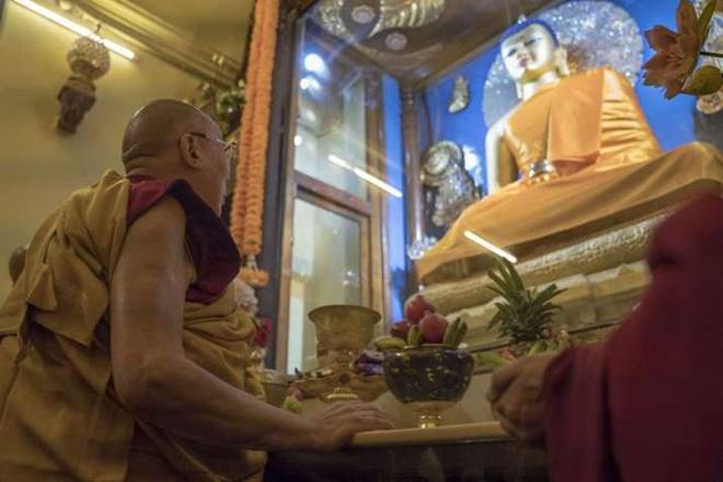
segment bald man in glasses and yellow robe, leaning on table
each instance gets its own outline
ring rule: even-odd
[[[260,399],[218,217],[225,147],[200,111],[152,102],[126,128],[127,175],[71,194],[35,233],[0,310],[0,480],[249,480],[263,450],[390,426],[369,404],[301,417]]]

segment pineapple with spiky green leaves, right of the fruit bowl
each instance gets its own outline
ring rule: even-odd
[[[526,288],[515,266],[507,260],[497,260],[497,271],[490,272],[494,283],[489,288],[500,295],[503,301],[495,302],[497,313],[487,330],[497,328],[502,337],[509,337],[516,355],[530,349],[553,348],[552,317],[560,307],[552,303],[552,298],[563,290],[555,285],[538,291]],[[548,343],[552,342],[552,343]],[[541,346],[544,345],[544,346]]]

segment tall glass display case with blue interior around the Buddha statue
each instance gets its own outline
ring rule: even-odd
[[[272,137],[284,146],[277,368],[317,367],[306,313],[318,306],[368,306],[385,326],[401,319],[404,300],[420,289],[418,259],[494,191],[491,176],[524,177],[516,168],[501,174],[489,149],[491,129],[520,101],[497,43],[520,19],[541,19],[554,31],[567,54],[566,74],[618,72],[662,151],[696,139],[720,144],[712,134],[720,99],[668,102],[640,79],[651,56],[642,31],[672,23],[676,7],[675,0],[655,12],[644,0],[297,2],[283,31],[288,42],[275,83],[283,122]]]

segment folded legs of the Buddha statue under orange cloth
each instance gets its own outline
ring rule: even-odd
[[[633,222],[705,192],[723,193],[723,154],[692,142],[649,161],[594,164],[533,186],[510,184],[462,213],[418,262],[420,278],[480,254],[473,231],[520,256]]]

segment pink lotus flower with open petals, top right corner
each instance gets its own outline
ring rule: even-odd
[[[676,13],[678,32],[655,25],[645,38],[655,50],[643,66],[645,85],[665,88],[665,97],[673,99],[682,91],[700,55],[701,38],[696,9],[689,0],[680,0]]]

